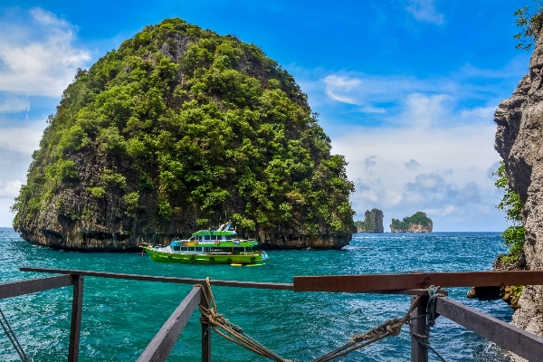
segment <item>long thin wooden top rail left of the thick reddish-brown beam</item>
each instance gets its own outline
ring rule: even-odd
[[[73,275],[86,275],[90,277],[100,278],[113,278],[113,279],[126,279],[130,281],[161,281],[161,282],[173,282],[180,284],[205,284],[205,279],[193,279],[193,278],[176,278],[176,277],[159,277],[155,275],[138,275],[138,274],[123,274],[116,272],[101,272],[101,271],[78,271],[71,269],[50,269],[50,268],[33,268],[22,267],[20,271],[38,271],[38,272],[52,272],[58,274],[73,274]],[[256,289],[273,289],[292,291],[291,283],[274,283],[274,282],[260,282],[260,281],[210,281],[211,285],[222,287],[238,287],[238,288],[256,288]]]

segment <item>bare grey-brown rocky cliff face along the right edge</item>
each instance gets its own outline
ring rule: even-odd
[[[543,42],[536,45],[529,73],[496,110],[495,148],[505,163],[510,187],[525,205],[524,254],[529,270],[543,269]],[[543,287],[524,288],[513,324],[543,337]]]

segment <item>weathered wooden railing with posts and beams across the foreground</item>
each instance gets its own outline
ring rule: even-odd
[[[37,291],[47,291],[73,285],[71,303],[71,330],[68,348],[68,361],[77,361],[79,355],[81,310],[83,296],[83,278],[99,277],[133,281],[158,281],[196,285],[179,304],[163,327],[157,332],[148,347],[138,358],[138,362],[166,361],[176,341],[185,329],[190,316],[201,304],[207,305],[210,291],[205,287],[205,280],[192,278],[160,277],[152,275],[122,274],[100,271],[77,271],[66,269],[48,269],[22,267],[20,271],[60,273],[61,276],[14,281],[0,284],[0,300]],[[411,302],[417,297],[422,302],[413,310],[410,323],[411,361],[427,362],[427,346],[415,335],[424,336],[424,314],[428,300],[427,288],[439,285],[442,288],[488,287],[508,285],[543,285],[543,271],[462,271],[462,272],[412,272],[406,274],[364,274],[364,275],[327,275],[295,276],[292,283],[254,282],[254,281],[210,281],[211,285],[238,288],[257,288],[286,290],[294,292],[348,292],[348,293],[385,293],[411,296]],[[204,286],[204,287],[202,287]],[[443,295],[446,291],[440,290]],[[529,361],[540,361],[543,356],[543,338],[524,329],[519,329],[500,319],[495,319],[479,310],[474,310],[461,302],[440,296],[435,300],[435,311],[441,316],[462,325]],[[211,361],[211,329],[202,324],[202,361]]]

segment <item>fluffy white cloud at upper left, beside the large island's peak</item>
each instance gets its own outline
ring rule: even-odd
[[[58,97],[90,60],[73,46],[73,27],[39,8],[25,24],[0,20],[0,33],[0,90]]]

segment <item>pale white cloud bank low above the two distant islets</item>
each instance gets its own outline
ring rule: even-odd
[[[481,221],[478,214],[499,214],[494,205],[500,195],[489,178],[489,169],[500,160],[492,147],[495,126],[490,122],[455,125],[454,119],[462,116],[446,109],[435,117],[449,119],[453,125],[434,127],[439,123],[432,119],[432,101],[406,104],[402,118],[421,112],[430,119],[423,125],[345,128],[342,136],[332,139],[333,152],[348,161],[357,214],[379,208],[386,214],[386,224],[392,217],[424,211],[438,231],[468,230],[466,224],[484,230],[481,224],[473,226]],[[428,107],[426,112],[421,104]]]

